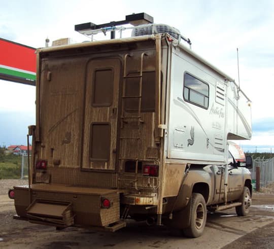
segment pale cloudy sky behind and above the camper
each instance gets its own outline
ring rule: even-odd
[[[31,47],[70,37],[87,40],[74,25],[124,20],[146,12],[154,23],[178,28],[192,49],[232,78],[252,100],[253,138],[245,151],[274,151],[274,1],[4,1],[0,0],[0,38]],[[1,55],[0,55],[1,56]],[[35,123],[35,87],[0,80],[0,145],[26,144],[27,125]]]

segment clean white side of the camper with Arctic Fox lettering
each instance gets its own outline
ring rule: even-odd
[[[167,162],[224,164],[228,139],[251,138],[250,100],[233,79],[183,45],[173,47],[170,67]],[[187,89],[188,78],[195,82]]]

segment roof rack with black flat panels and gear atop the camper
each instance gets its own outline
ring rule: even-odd
[[[131,24],[132,26],[122,26],[124,24]],[[160,28],[160,26],[164,26],[164,28]],[[157,33],[157,30],[159,29],[158,32],[165,32],[166,27],[170,32],[167,31],[170,35],[174,37],[173,34],[176,34],[176,39],[180,42],[180,39],[183,39],[185,42],[187,42],[191,48],[191,41],[188,38],[183,37],[181,35],[180,31],[178,29],[175,29],[173,27],[169,27],[164,24],[154,24],[153,23],[153,17],[146,14],[146,13],[138,13],[138,14],[131,14],[125,16],[125,20],[123,21],[112,21],[109,23],[104,23],[104,24],[94,24],[92,22],[87,22],[87,23],[82,23],[82,24],[77,24],[75,25],[75,31],[85,35],[91,41],[93,42],[93,36],[98,33],[104,33],[106,35],[107,32],[111,32],[111,39],[115,39],[115,31],[119,31],[120,37],[122,38],[122,32],[124,30],[128,29],[135,29],[138,28],[139,30],[143,29],[148,31],[149,29],[151,30],[151,33]],[[169,28],[168,28],[169,27]],[[133,33],[133,32],[132,32]],[[142,32],[141,32],[142,33]],[[140,34],[136,34],[140,35]]]

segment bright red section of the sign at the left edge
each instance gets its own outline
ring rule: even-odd
[[[36,49],[0,39],[0,64],[36,73]]]

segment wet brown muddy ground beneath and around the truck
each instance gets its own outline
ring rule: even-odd
[[[253,195],[253,205],[246,217],[237,217],[234,209],[208,214],[204,234],[196,239],[182,236],[166,227],[147,227],[129,222],[116,233],[97,232],[70,227],[56,231],[54,227],[30,224],[12,219],[13,200],[7,191],[27,181],[0,180],[0,248],[273,248],[274,188]]]

